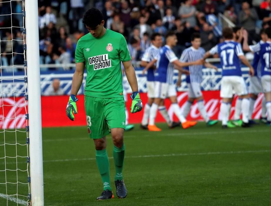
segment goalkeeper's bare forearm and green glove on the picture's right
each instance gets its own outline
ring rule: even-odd
[[[125,74],[127,80],[131,86],[133,93],[131,94],[132,106],[131,106],[131,113],[139,112],[143,108],[142,101],[139,97],[138,93],[138,85],[137,85],[137,76],[134,71],[134,67],[132,65],[131,60],[127,62],[122,62],[125,70]]]

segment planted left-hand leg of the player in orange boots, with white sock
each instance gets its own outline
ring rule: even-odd
[[[149,131],[161,131],[158,127],[155,125],[155,117],[157,115],[157,109],[158,105],[161,104],[163,99],[166,98],[167,96],[167,89],[168,89],[168,84],[164,82],[155,82],[155,98],[154,102],[152,103],[152,107],[150,109],[150,115],[149,115],[149,125],[148,129]]]

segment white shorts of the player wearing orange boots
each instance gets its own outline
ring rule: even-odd
[[[176,87],[174,84],[164,82],[155,82],[155,98],[166,99],[167,97],[177,96]]]

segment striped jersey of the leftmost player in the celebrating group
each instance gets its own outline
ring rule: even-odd
[[[159,54],[159,48],[155,47],[154,45],[149,46],[145,53],[143,54],[141,60],[144,62],[151,62],[154,57],[156,57]],[[147,81],[153,82],[154,81],[154,72],[155,70],[153,68],[149,68],[147,73]]]

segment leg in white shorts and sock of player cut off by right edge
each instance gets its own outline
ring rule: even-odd
[[[261,77],[263,91],[265,93],[267,109],[267,125],[271,125],[271,76],[264,75]]]

